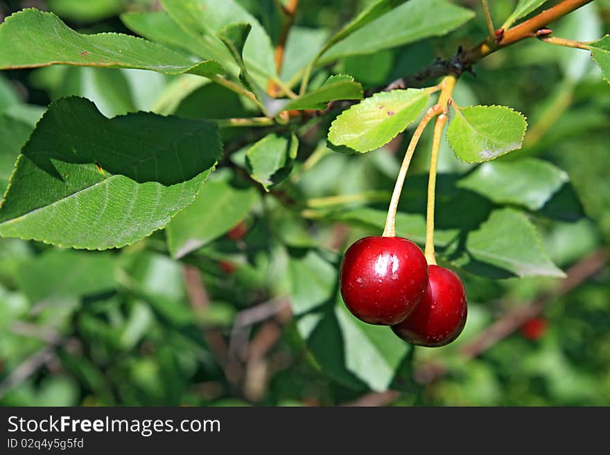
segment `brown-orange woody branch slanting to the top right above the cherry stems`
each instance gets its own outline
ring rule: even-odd
[[[393,89],[405,89],[406,87],[419,87],[426,80],[439,78],[443,75],[453,74],[460,76],[464,71],[472,72],[472,66],[487,55],[498,51],[501,48],[512,46],[526,38],[536,37],[539,29],[548,24],[568,15],[577,8],[591,3],[593,0],[564,0],[557,5],[540,12],[531,19],[522,22],[508,30],[498,30],[497,38],[487,37],[473,48],[463,51],[458,49],[458,53],[444,60],[437,59],[421,71],[394,80],[387,87],[378,87],[374,91],[388,91]]]

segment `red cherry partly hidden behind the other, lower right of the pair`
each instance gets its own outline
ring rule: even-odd
[[[403,340],[430,348],[458,338],[466,323],[466,291],[460,277],[449,269],[430,265],[428,287],[415,310],[392,326]]]

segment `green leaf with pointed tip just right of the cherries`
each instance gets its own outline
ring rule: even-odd
[[[536,228],[528,217],[512,208],[492,212],[480,229],[468,235],[466,249],[471,260],[464,268],[475,273],[476,264],[473,262],[478,261],[521,278],[565,276],[544,251]]]

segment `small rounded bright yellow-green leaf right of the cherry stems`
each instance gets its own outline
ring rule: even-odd
[[[465,163],[482,163],[521,148],[528,123],[523,114],[504,106],[471,106],[456,110],[447,141]]]

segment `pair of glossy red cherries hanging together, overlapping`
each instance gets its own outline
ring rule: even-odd
[[[419,346],[445,346],[466,323],[466,291],[453,271],[428,266],[401,237],[365,237],[345,252],[340,271],[345,305],[361,321],[390,325]]]

